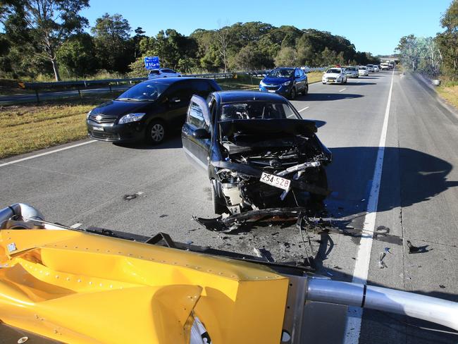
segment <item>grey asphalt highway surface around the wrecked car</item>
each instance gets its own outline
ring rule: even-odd
[[[314,84],[307,97],[292,104],[303,118],[317,121],[319,137],[333,152],[328,166],[333,193],[326,200],[332,224],[363,228],[392,80],[375,226],[388,227],[404,240],[373,241],[368,283],[458,302],[457,114],[419,80],[397,72],[349,79],[347,85]],[[211,193],[206,174],[185,159],[179,135],[159,147],[91,142],[2,166],[53,149],[0,161],[1,207],[25,202],[47,220],[69,226],[142,235],[163,231],[181,242],[249,254],[265,245],[278,261],[307,255],[293,226],[218,235],[192,221],[194,214],[213,216]],[[134,194],[135,199],[124,199]],[[352,281],[359,240],[343,235],[312,239],[321,239],[314,241],[318,272]],[[409,254],[406,240],[426,246],[425,252]],[[390,253],[380,269],[385,247]],[[316,317],[309,313],[311,343],[341,342],[345,314],[345,307],[328,314],[322,309]],[[359,343],[457,343],[457,336],[414,326],[433,325],[365,310]]]

